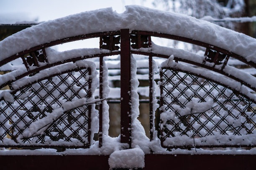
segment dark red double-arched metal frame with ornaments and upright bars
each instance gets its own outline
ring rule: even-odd
[[[120,35],[120,50],[113,50],[112,46],[113,46],[113,37],[114,36],[119,36]],[[15,80],[10,80],[8,82],[3,83],[2,85],[0,85],[0,89],[5,87],[6,85],[11,85],[12,82],[19,80],[22,77],[25,77],[27,75],[31,75],[32,73],[36,73],[40,70],[44,70],[46,68],[50,68],[56,65],[61,65],[67,62],[75,62],[77,60],[84,60],[84,59],[88,59],[88,58],[93,58],[93,57],[99,57],[100,58],[100,77],[102,77],[102,58],[105,56],[111,56],[111,55],[121,55],[121,98],[123,100],[121,100],[121,143],[128,143],[130,148],[131,148],[131,117],[126,114],[127,112],[129,112],[131,114],[131,108],[130,105],[128,104],[131,100],[131,96],[127,95],[128,91],[131,91],[131,84],[130,84],[130,80],[131,80],[131,70],[129,70],[130,66],[130,54],[138,54],[138,55],[147,55],[149,57],[149,88],[153,87],[153,77],[152,77],[152,57],[161,57],[161,58],[169,58],[169,56],[167,55],[162,55],[162,54],[156,54],[156,53],[152,53],[152,52],[143,52],[140,50],[136,50],[136,49],[132,49],[131,50],[131,37],[135,35],[135,39],[136,43],[137,43],[137,48],[141,48],[143,45],[143,42],[141,41],[141,36],[146,36],[148,42],[146,42],[146,46],[148,48],[151,47],[151,36],[154,37],[161,37],[161,38],[167,38],[167,39],[172,39],[172,40],[179,40],[179,41],[183,41],[183,42],[188,42],[194,45],[199,45],[202,47],[206,48],[205,51],[205,60],[203,63],[197,63],[195,61],[192,60],[185,60],[185,59],[181,59],[178,57],[174,56],[174,60],[179,62],[187,62],[189,64],[192,65],[196,65],[196,66],[200,66],[215,72],[218,72],[222,75],[225,75],[227,77],[230,77],[233,80],[236,80],[238,82],[241,82],[243,85],[246,85],[247,87],[250,87],[252,90],[256,91],[256,88],[252,87],[250,84],[248,84],[247,82],[244,82],[243,80],[240,80],[237,77],[228,75],[226,72],[223,71],[223,68],[225,67],[225,65],[228,62],[229,57],[233,57],[237,60],[240,60],[244,63],[246,63],[247,65],[250,65],[254,68],[256,68],[256,63],[251,62],[251,61],[247,61],[244,57],[235,54],[233,52],[229,52],[228,50],[225,50],[221,47],[216,47],[213,45],[210,45],[208,43],[205,42],[201,42],[201,41],[197,41],[197,40],[193,40],[193,39],[189,39],[186,37],[180,37],[177,35],[169,35],[169,34],[163,34],[163,33],[158,33],[158,32],[148,32],[148,31],[140,31],[140,30],[133,30],[131,31],[131,33],[129,32],[129,29],[123,29],[120,31],[109,31],[109,32],[97,32],[97,33],[92,33],[92,34],[87,34],[87,35],[77,35],[74,37],[66,37],[63,38],[61,40],[55,40],[49,43],[45,43],[42,45],[38,45],[35,47],[32,47],[29,50],[24,50],[21,52],[18,52],[18,54],[12,55],[2,61],[0,61],[0,66],[15,60],[19,57],[22,58],[24,65],[27,68],[27,72],[15,77]],[[84,39],[88,39],[88,38],[95,38],[95,37],[100,37],[100,48],[102,48],[102,37],[110,37],[110,47],[108,47],[109,52],[108,53],[98,53],[98,54],[94,54],[94,55],[90,55],[90,56],[74,56],[72,59],[68,59],[68,60],[64,60],[61,62],[55,62],[55,63],[48,63],[47,60],[47,55],[45,52],[45,48],[46,47],[51,47],[54,45],[59,45],[65,42],[72,42],[72,41],[76,41],[76,40],[84,40]],[[134,41],[134,38],[133,38]],[[39,66],[38,65],[38,56],[36,56],[36,51],[41,50],[42,54],[44,56],[44,61],[46,62],[46,65],[44,66]],[[212,56],[212,62],[214,63],[214,65],[212,67],[205,65],[205,62],[207,61],[207,55],[209,50],[213,50],[216,52],[215,56]],[[28,61],[26,60],[26,58],[24,57],[24,55],[26,54],[31,54],[32,58],[33,58],[33,62],[36,65],[35,69],[30,69]],[[224,59],[219,59],[220,55],[225,55]],[[224,61],[223,61],[224,60]],[[222,64],[222,68],[221,70],[218,70],[215,68],[215,65],[217,64],[218,61],[223,61]],[[127,70],[128,68],[128,70]],[[131,68],[130,68],[131,69]],[[151,90],[149,90],[149,103],[150,103],[150,111],[149,111],[149,117],[150,117],[150,140],[153,140],[153,127],[154,127],[154,117],[153,117],[153,105],[152,105],[152,101],[153,101],[153,92]],[[100,95],[99,95],[100,99],[102,99],[102,78],[100,78]],[[100,130],[99,130],[99,134],[100,134],[100,138],[99,138],[99,146],[102,146],[102,104],[100,105],[100,110],[99,110],[99,118],[100,118]]]

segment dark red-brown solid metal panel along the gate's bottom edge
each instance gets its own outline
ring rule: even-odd
[[[109,155],[0,155],[1,169],[109,170]],[[145,155],[143,170],[253,170],[256,155]],[[138,168],[140,169],[140,168]]]

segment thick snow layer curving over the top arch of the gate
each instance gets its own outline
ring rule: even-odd
[[[17,32],[0,42],[0,61],[36,45],[76,35],[129,28],[161,32],[222,47],[256,62],[256,39],[196,18],[128,5],[124,13],[111,7],[50,20]]]

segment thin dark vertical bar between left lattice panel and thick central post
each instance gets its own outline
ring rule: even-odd
[[[103,91],[103,57],[100,57],[100,94],[99,98],[102,99]],[[99,105],[99,148],[102,147],[102,112],[103,112],[103,103],[100,102]]]

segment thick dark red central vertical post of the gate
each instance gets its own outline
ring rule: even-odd
[[[131,148],[131,42],[129,29],[120,30],[121,143]]]

